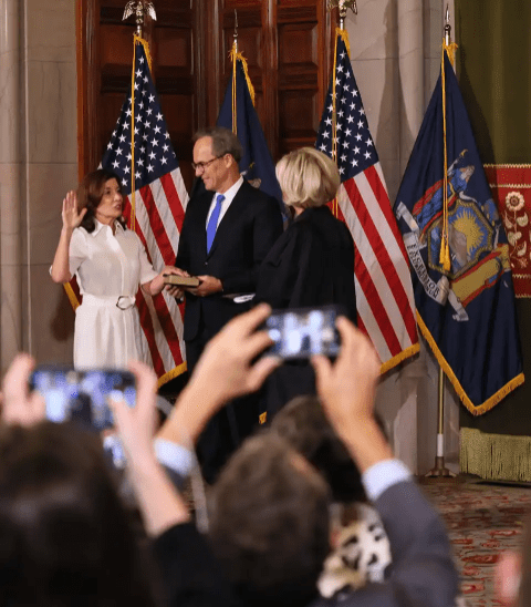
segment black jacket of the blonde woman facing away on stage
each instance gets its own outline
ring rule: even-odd
[[[354,243],[329,207],[306,208],[260,268],[256,301],[273,309],[341,305],[356,321]]]

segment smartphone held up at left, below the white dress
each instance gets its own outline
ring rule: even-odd
[[[72,420],[98,432],[113,425],[110,397],[136,403],[135,377],[122,370],[41,366],[31,374],[30,388],[44,398],[50,421]]]

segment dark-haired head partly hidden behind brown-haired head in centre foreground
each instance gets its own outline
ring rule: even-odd
[[[365,502],[360,470],[315,395],[296,397],[271,422],[271,432],[313,464],[324,476],[335,502]]]

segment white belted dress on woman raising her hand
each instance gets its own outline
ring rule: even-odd
[[[75,311],[74,367],[125,369],[131,359],[149,362],[135,297],[139,285],[157,276],[138,236],[116,222],[95,220],[88,234],[74,229],[70,271],[75,274],[83,302]]]

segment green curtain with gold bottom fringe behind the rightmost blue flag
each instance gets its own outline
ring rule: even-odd
[[[531,164],[531,2],[456,0],[456,42],[481,160]],[[461,470],[531,481],[531,300],[518,299],[517,312],[527,382],[479,418],[461,407]]]

